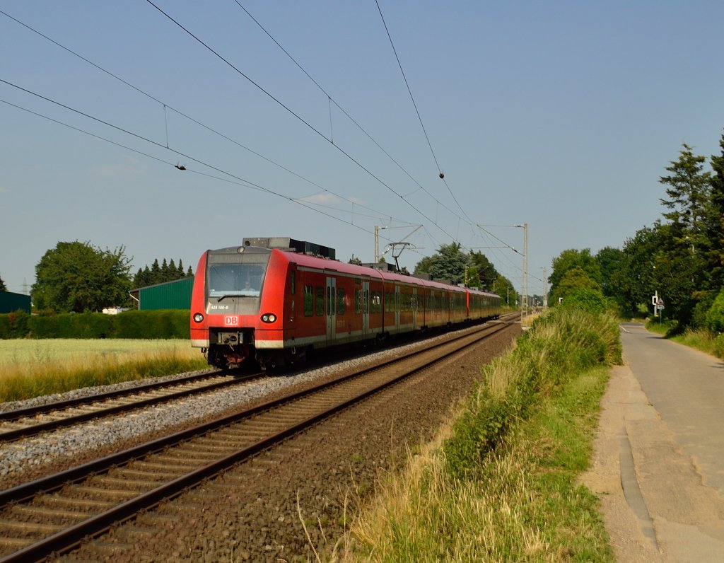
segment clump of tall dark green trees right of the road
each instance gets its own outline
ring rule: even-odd
[[[665,186],[663,219],[636,231],[622,251],[599,251],[598,275],[581,261],[586,251],[564,251],[554,261],[552,292],[566,271],[580,265],[605,296],[615,297],[623,314],[650,311],[651,296],[658,293],[678,330],[706,326],[724,285],[724,135],[720,147],[708,172],[706,158],[684,143],[659,180]]]

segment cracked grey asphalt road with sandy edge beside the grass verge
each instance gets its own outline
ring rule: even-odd
[[[724,562],[724,362],[623,323],[592,470],[620,562]]]

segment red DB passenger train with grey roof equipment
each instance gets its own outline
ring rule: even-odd
[[[291,238],[245,238],[198,261],[191,345],[227,368],[500,316],[500,296],[334,259]]]

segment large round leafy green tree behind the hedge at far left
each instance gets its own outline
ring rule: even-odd
[[[35,266],[33,303],[56,312],[100,311],[129,301],[125,247],[101,250],[89,242],[59,242]]]

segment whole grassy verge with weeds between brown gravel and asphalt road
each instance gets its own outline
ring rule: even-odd
[[[526,331],[408,469],[388,475],[342,558],[613,561],[589,464],[618,325],[560,311]]]

